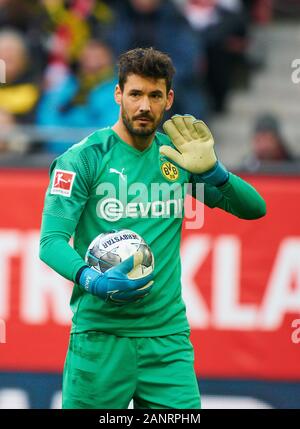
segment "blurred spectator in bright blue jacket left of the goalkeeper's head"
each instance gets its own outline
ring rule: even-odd
[[[37,123],[72,131],[74,127],[103,128],[116,121],[119,109],[113,99],[117,84],[113,61],[106,44],[90,40],[81,53],[77,72],[69,73],[60,85],[45,88]],[[46,150],[61,153],[76,141],[75,132],[74,137],[64,143],[48,142]]]

